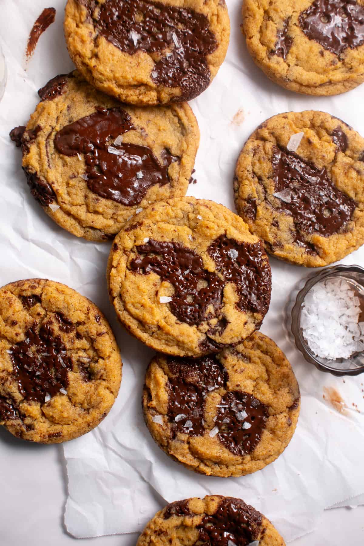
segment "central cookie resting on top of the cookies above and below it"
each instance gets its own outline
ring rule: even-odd
[[[116,236],[108,283],[118,319],[157,351],[200,357],[260,327],[271,269],[259,239],[223,205],[154,204]]]

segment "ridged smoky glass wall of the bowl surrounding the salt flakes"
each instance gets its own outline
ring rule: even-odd
[[[305,296],[314,284],[329,277],[340,277],[349,282],[363,299],[362,308],[364,310],[364,269],[359,265],[335,265],[323,269],[319,273],[314,272],[297,284],[293,292],[291,292],[286,309],[287,329],[293,335],[296,347],[301,351],[303,357],[305,357],[307,362],[316,366],[318,370],[332,373],[335,376],[358,375],[364,372],[364,352],[354,353],[349,359],[338,358],[336,360],[329,360],[318,357],[311,352],[302,334],[300,320]]]

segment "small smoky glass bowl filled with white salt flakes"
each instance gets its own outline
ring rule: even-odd
[[[364,372],[364,269],[336,265],[309,276],[291,310],[297,348],[319,370]]]

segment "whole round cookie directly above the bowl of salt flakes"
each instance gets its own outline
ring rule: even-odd
[[[364,242],[364,139],[325,112],[273,116],[244,145],[234,194],[267,252],[308,267],[336,262]]]

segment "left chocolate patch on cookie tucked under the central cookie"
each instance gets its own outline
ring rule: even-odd
[[[173,377],[169,377],[168,418],[171,435],[183,432],[190,436],[204,434],[205,397],[208,392],[226,385],[228,372],[215,357],[168,360]],[[177,418],[177,419],[176,419]]]

